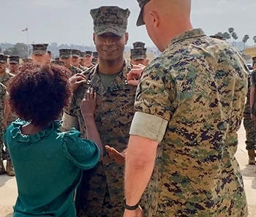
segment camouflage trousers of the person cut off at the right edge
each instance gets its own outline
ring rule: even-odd
[[[252,121],[250,108],[246,104],[244,111],[244,129],[246,132],[246,150],[255,150],[256,148],[256,121]]]

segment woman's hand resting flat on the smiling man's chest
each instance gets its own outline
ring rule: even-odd
[[[97,105],[97,94],[94,91],[94,88],[88,88],[80,104],[80,110],[85,120],[89,118],[94,118],[96,105]]]

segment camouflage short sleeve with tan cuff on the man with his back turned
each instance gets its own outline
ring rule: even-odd
[[[130,134],[162,141],[174,111],[176,88],[159,59],[146,67],[138,85]]]

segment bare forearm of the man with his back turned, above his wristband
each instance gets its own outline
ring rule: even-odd
[[[138,148],[140,145],[141,148]],[[152,145],[152,146],[151,146]],[[147,146],[151,146],[148,147]],[[127,149],[124,191],[127,205],[136,205],[154,170],[157,142],[131,136]]]

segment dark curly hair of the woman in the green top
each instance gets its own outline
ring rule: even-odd
[[[20,119],[46,126],[69,105],[71,72],[55,64],[24,64],[8,84],[10,106]]]

